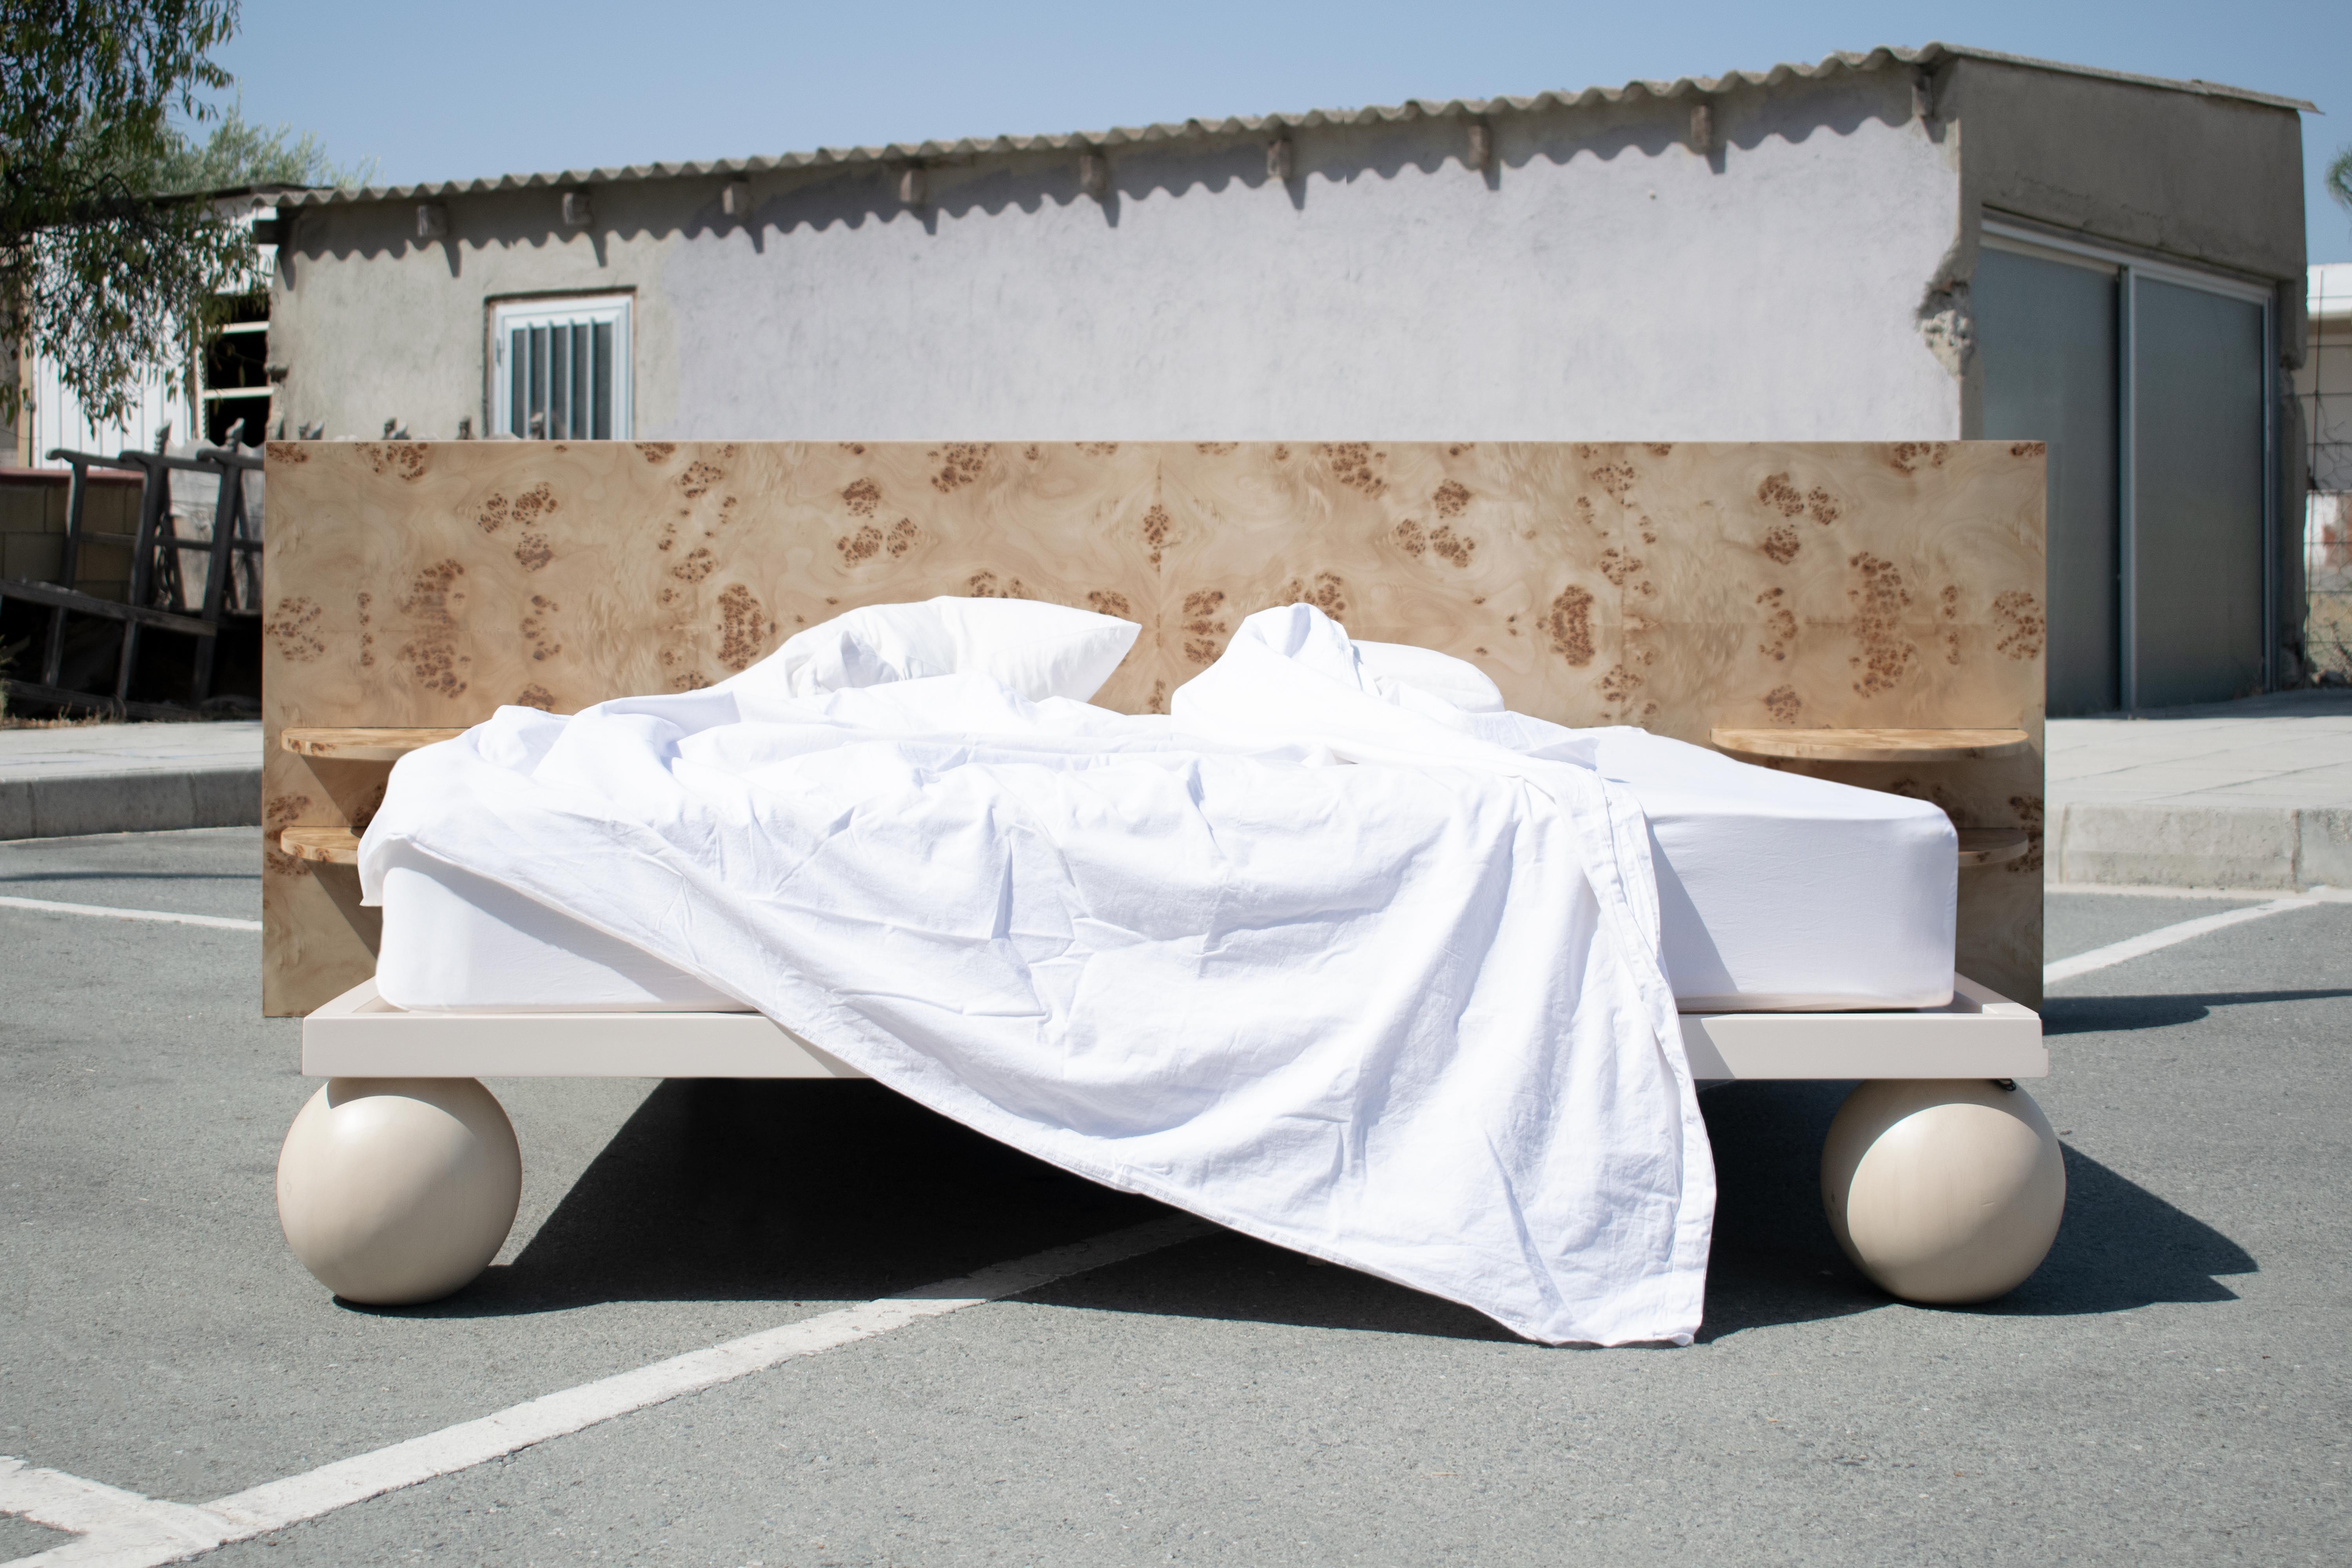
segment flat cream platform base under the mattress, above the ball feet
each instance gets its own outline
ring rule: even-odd
[[[2042,1018],[1952,978],[1940,1009],[1684,1013],[1691,1077],[2039,1079]],[[301,1025],[306,1077],[350,1079],[861,1079],[760,1013],[407,1013],[350,987]]]

